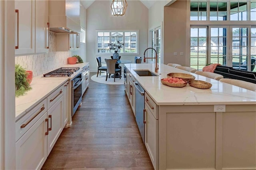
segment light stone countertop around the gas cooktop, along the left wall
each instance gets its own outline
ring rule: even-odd
[[[16,121],[43,101],[50,93],[58,89],[63,83],[72,79],[89,63],[67,64],[62,67],[80,67],[71,77],[44,77],[39,75],[33,77],[30,86],[32,89],[26,92],[25,95],[15,98],[15,118]]]

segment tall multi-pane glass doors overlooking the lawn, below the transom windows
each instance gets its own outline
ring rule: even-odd
[[[190,67],[202,70],[219,63],[235,69],[256,71],[256,27],[191,26]]]

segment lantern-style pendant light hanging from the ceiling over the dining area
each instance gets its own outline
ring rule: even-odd
[[[110,7],[114,16],[123,16],[127,6],[126,0],[113,0]]]

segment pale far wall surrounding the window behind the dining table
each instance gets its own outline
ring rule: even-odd
[[[96,53],[96,30],[139,30],[139,54],[123,55],[121,59],[134,62],[134,56],[143,57],[148,47],[148,8],[138,0],[128,1],[125,16],[111,16],[111,1],[96,0],[86,9],[86,62],[90,71],[97,71],[96,57],[110,58],[110,55]]]

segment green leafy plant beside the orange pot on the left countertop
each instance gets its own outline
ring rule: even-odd
[[[27,81],[28,73],[19,64],[15,65],[15,96],[24,95],[32,89]]]

